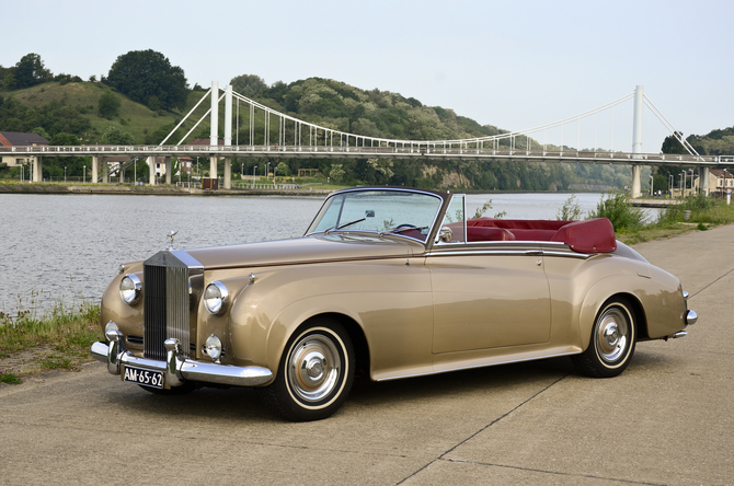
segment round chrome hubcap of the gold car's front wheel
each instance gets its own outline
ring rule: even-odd
[[[306,402],[329,396],[339,383],[342,362],[333,340],[312,334],[299,340],[288,360],[288,383],[293,392]]]

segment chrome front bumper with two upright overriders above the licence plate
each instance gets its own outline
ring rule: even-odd
[[[125,348],[123,334],[119,331],[108,331],[106,337],[110,340],[110,345],[94,343],[91,354],[98,361],[107,363],[107,371],[112,374],[119,374],[121,364],[162,371],[167,389],[180,386],[186,380],[236,386],[256,386],[265,384],[273,379],[273,372],[263,367],[236,367],[232,364],[181,359],[181,344],[179,339],[167,339],[167,359],[165,361],[156,361],[133,356]]]

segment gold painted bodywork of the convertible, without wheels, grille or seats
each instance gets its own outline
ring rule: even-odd
[[[548,241],[441,244],[437,221],[451,195],[420,193],[443,199],[425,242],[340,230],[186,250],[203,266],[192,287],[188,360],[211,362],[203,346],[214,334],[221,364],[268,369],[272,378],[261,383],[268,385],[283,372],[289,339],[324,315],[344,326],[357,363],[378,381],[577,355],[615,296],[633,308],[636,340],[677,337],[686,327],[680,281],[623,244],[608,253]],[[130,274],[142,280],[142,266],[125,264],[101,309],[103,324],[115,322],[137,357],[142,346],[129,336],[144,336],[144,299],[123,302],[119,285]],[[229,291],[219,315],[200,298],[214,281]]]

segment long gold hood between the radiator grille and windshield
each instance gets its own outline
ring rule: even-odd
[[[362,258],[406,257],[423,252],[423,245],[404,238],[353,233],[305,236],[227,246],[184,250],[205,269],[295,265]]]

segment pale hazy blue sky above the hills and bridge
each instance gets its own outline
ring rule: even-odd
[[[239,74],[310,77],[415,97],[481,125],[523,130],[644,86],[686,136],[734,125],[734,2],[645,1],[5,1],[0,65],[41,55],[55,74],[108,72],[153,49],[191,85]],[[630,151],[632,102],[540,142]],[[612,123],[613,120],[613,123]],[[643,115],[643,151],[668,135]]]

